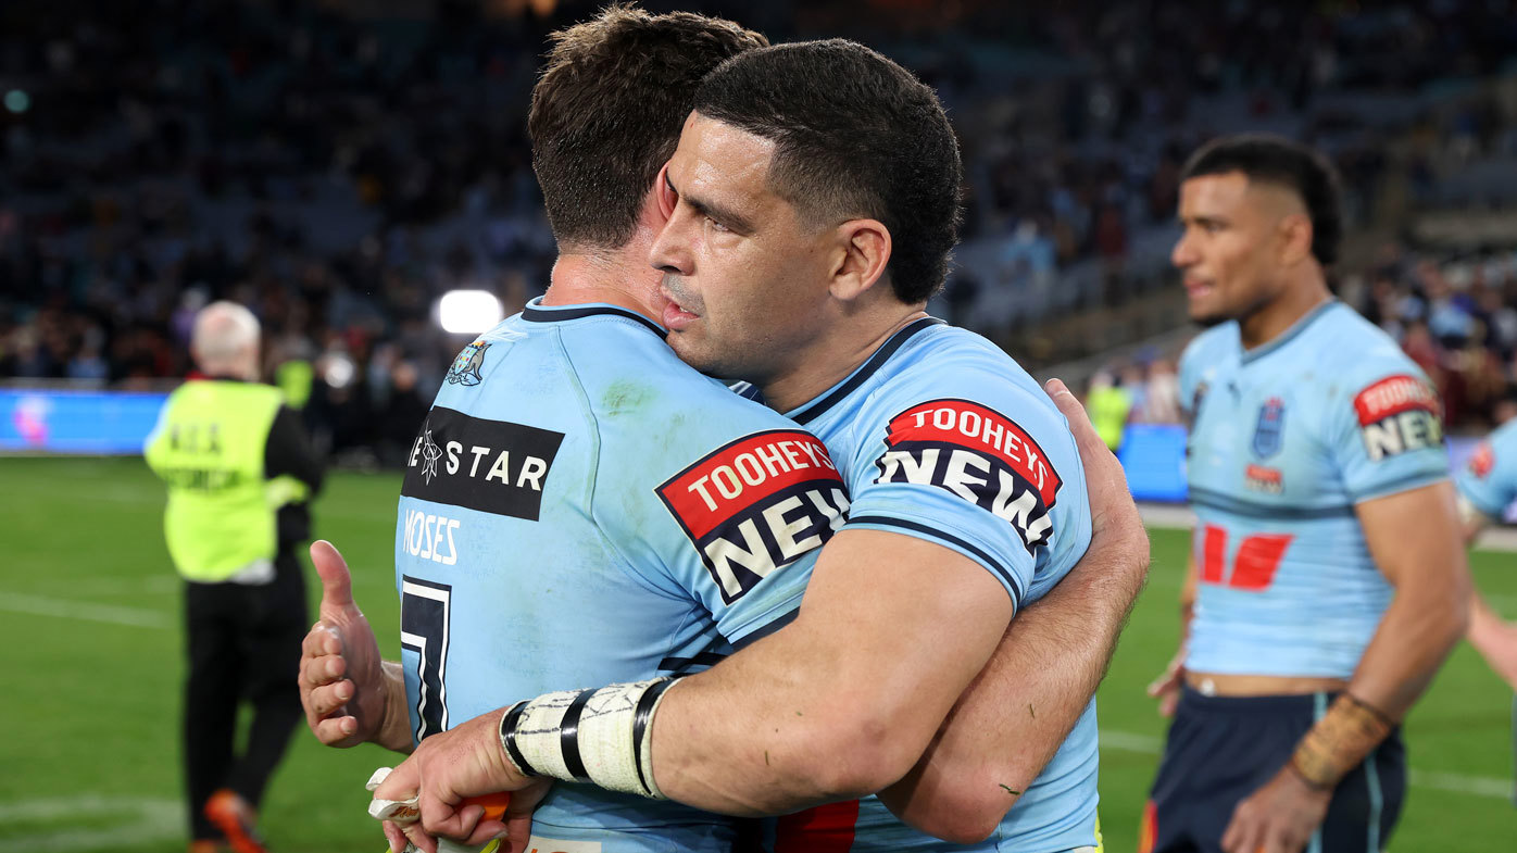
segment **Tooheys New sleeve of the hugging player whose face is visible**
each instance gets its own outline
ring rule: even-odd
[[[869,407],[857,428],[874,436],[860,436],[848,527],[951,548],[991,571],[1021,607],[1035,586],[1056,580],[1039,574],[1050,554],[1073,549],[1068,571],[1089,543],[1085,471],[1068,423],[1041,392],[989,372],[954,386]],[[972,396],[950,396],[969,389]]]

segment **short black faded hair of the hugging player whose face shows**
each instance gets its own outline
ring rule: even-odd
[[[711,71],[695,109],[775,143],[769,188],[804,220],[884,223],[898,299],[942,287],[959,241],[959,143],[910,71],[853,41],[777,44]]]

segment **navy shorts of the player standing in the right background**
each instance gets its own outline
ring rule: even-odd
[[[1170,726],[1144,811],[1139,853],[1221,853],[1233,807],[1285,766],[1333,694],[1206,697],[1189,688]],[[1379,853],[1406,794],[1396,727],[1338,783],[1306,853]]]

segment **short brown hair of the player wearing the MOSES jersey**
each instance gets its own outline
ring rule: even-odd
[[[769,41],[721,18],[620,3],[551,39],[526,118],[548,222],[560,250],[616,249],[674,156],[701,77]]]

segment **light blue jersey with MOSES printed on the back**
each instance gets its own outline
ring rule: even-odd
[[[458,355],[408,460],[413,736],[710,666],[793,616],[846,508],[821,442],[683,364],[657,325],[529,305]],[[572,783],[534,815],[545,848],[575,853],[728,850],[736,826]]]

